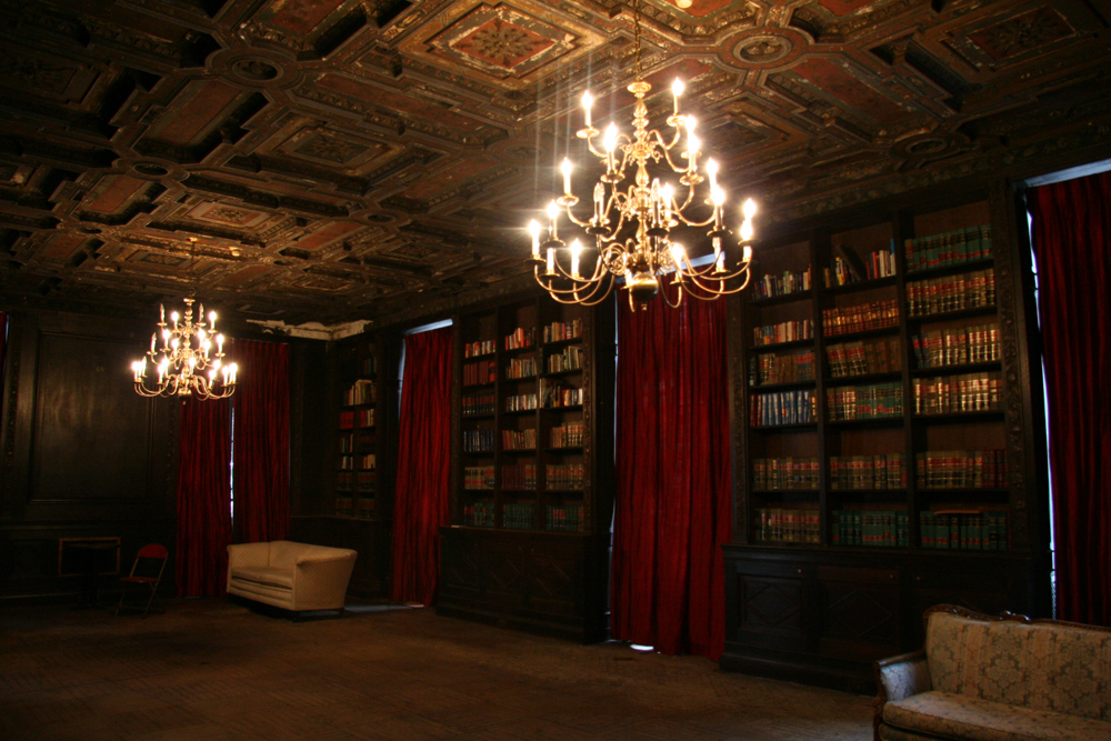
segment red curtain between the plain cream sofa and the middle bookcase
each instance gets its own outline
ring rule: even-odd
[[[390,599],[431,607],[449,518],[451,328],[406,338]]]

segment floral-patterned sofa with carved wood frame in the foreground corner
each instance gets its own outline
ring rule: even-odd
[[[938,605],[875,663],[875,738],[1111,740],[1111,629]]]

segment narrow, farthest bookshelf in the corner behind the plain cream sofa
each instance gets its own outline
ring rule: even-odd
[[[380,353],[364,340],[340,350],[333,514],[377,520]]]

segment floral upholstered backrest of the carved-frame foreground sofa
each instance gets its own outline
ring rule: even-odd
[[[1111,721],[1111,632],[935,612],[925,652],[940,692]]]

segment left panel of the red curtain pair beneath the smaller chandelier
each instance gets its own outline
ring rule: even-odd
[[[178,462],[178,597],[227,591],[231,543],[229,401],[187,400]]]

